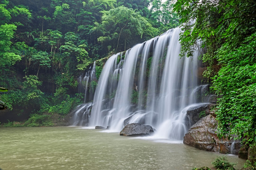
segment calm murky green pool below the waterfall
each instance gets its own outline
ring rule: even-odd
[[[217,155],[79,127],[0,128],[2,170],[191,170],[212,167]],[[227,156],[239,168],[245,162]]]

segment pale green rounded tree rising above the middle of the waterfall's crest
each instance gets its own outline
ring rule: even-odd
[[[158,33],[145,17],[124,6],[104,11],[101,23],[96,22],[94,30],[102,35],[98,41],[115,52],[125,51],[135,42],[146,41]]]

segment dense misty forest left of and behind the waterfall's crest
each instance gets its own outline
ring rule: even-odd
[[[30,117],[26,126],[53,125],[52,114],[64,116],[82,103],[77,77],[91,62],[178,26],[173,6],[172,0],[1,0],[0,86],[9,89],[1,100],[9,109],[0,122]]]

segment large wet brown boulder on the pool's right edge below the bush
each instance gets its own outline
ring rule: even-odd
[[[218,121],[212,115],[208,115],[189,129],[183,143],[201,150],[237,154],[240,147],[239,141],[233,143],[233,140],[227,138],[219,139],[216,133],[217,127]]]

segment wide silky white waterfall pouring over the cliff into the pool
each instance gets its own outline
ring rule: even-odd
[[[180,28],[111,56],[95,90],[88,126],[119,132],[129,123],[151,125],[156,136],[180,140],[189,128],[186,111],[207,85],[197,78],[198,52],[180,58]],[[200,92],[199,92],[200,91]]]

